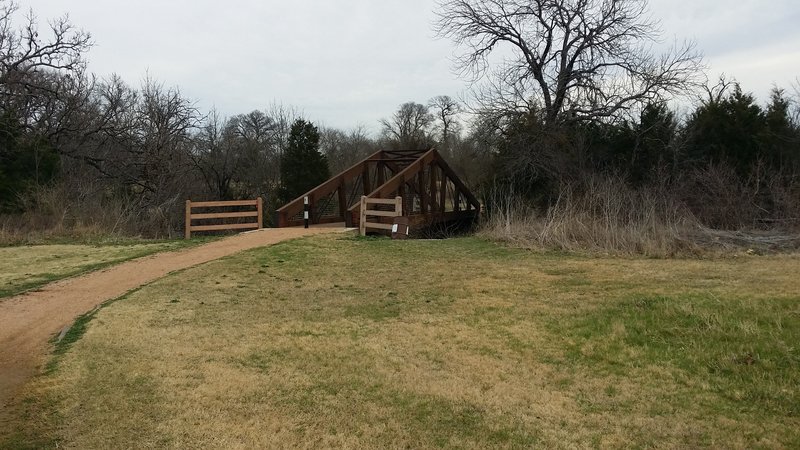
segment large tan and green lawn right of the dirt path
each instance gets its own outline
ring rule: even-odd
[[[284,243],[81,320],[0,442],[798,448],[798,273],[797,256]]]

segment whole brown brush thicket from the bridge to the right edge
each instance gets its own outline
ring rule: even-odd
[[[659,257],[796,248],[800,180],[753,173],[762,175],[742,180],[716,165],[641,187],[620,176],[587,175],[562,182],[545,208],[530,206],[513,188],[495,187],[481,233],[524,248]]]

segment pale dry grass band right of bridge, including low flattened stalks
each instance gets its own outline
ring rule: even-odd
[[[495,192],[490,202],[494,208],[480,234],[527,249],[661,258],[800,248],[796,230],[706,228],[663,186],[632,189],[624,180],[608,176],[590,177],[583,184],[580,190],[563,186],[544,213],[527,207],[513,193]]]

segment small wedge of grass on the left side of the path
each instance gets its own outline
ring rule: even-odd
[[[47,283],[199,241],[99,241],[0,247],[0,301]]]

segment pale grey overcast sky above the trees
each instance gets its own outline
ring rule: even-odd
[[[467,88],[432,31],[435,0],[18,0],[92,33],[90,69],[149,73],[224,115],[280,102],[323,125],[377,129],[406,101]],[[766,98],[800,77],[797,0],[651,0],[665,37]]]

